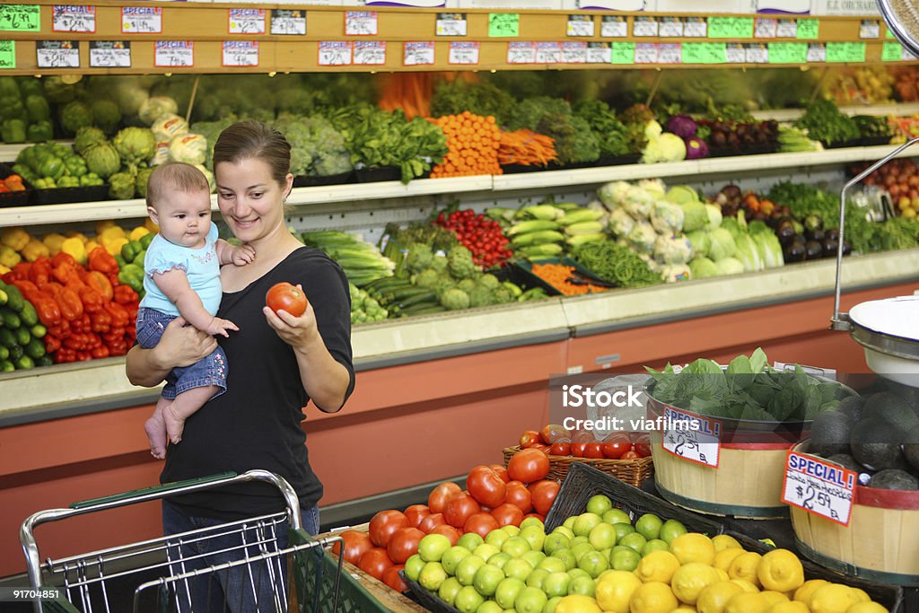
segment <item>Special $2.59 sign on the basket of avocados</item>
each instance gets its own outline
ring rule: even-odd
[[[857,479],[838,464],[789,451],[782,502],[848,526]]]

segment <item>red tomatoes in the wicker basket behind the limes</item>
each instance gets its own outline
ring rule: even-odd
[[[647,432],[613,432],[603,440],[597,440],[593,432],[572,432],[564,426],[549,424],[539,432],[526,430],[520,435],[520,447],[538,449],[550,456],[634,460],[651,455],[651,437]]]

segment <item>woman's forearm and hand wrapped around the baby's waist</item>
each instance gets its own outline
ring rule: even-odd
[[[217,348],[213,336],[186,324],[183,317],[176,317],[166,326],[156,346],[130,348],[125,359],[125,373],[132,385],[155,387],[165,380],[170,370],[191,366]]]

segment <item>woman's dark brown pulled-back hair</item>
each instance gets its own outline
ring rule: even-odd
[[[284,135],[255,119],[237,121],[221,131],[214,143],[214,169],[221,162],[239,164],[259,159],[271,169],[271,176],[283,186],[290,172],[290,143]]]

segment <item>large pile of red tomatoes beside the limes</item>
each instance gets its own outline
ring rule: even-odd
[[[544,521],[561,487],[546,479],[548,474],[549,456],[539,449],[521,449],[506,469],[500,464],[476,466],[469,471],[465,490],[455,482],[440,483],[426,505],[380,511],[370,519],[369,531],[342,532],[345,560],[404,592],[408,585],[399,571],[426,534],[442,534],[456,545],[466,532],[484,538],[502,526],[519,526],[526,517]],[[336,545],[334,551],[341,549]]]

